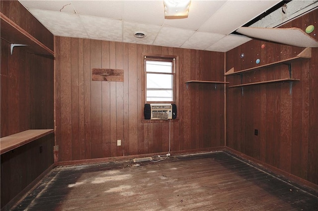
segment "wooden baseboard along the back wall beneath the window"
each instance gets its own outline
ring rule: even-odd
[[[171,151],[171,156],[179,156],[189,153],[206,153],[206,152],[215,152],[223,151],[224,147],[212,147],[196,150],[183,150],[183,151]],[[85,164],[94,164],[101,162],[111,162],[111,161],[123,161],[123,160],[132,160],[133,158],[145,158],[152,157],[157,155],[165,155],[167,152],[162,153],[151,153],[151,154],[142,154],[142,155],[133,155],[133,156],[120,156],[120,157],[111,157],[111,158],[93,158],[93,159],[81,159],[81,160],[70,160],[70,161],[59,161],[55,163],[55,166],[70,166],[70,165],[85,165]]]

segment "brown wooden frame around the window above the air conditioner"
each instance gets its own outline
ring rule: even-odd
[[[158,73],[158,74],[170,74],[173,76],[173,86],[172,86],[172,101],[147,101],[147,72],[146,61],[172,61],[172,73]],[[144,79],[144,89],[143,89],[143,104],[178,104],[178,56],[175,55],[160,55],[160,54],[143,54],[143,79]]]

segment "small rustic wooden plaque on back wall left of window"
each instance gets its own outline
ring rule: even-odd
[[[92,81],[124,81],[124,70],[93,68],[91,70]]]

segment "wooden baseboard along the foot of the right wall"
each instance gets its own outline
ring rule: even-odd
[[[286,180],[289,180],[291,182],[294,182],[296,184],[299,184],[301,186],[304,186],[308,189],[311,189],[312,191],[314,191],[315,193],[318,193],[318,185],[317,184],[314,184],[312,182],[309,182],[303,178],[300,178],[298,176],[295,176],[294,174],[291,174],[291,173],[288,173],[282,169],[279,169],[275,166],[272,166],[272,165],[269,165],[261,160],[258,160],[258,159],[255,159],[255,158],[252,158],[252,157],[249,157],[239,151],[236,151],[232,148],[229,148],[229,147],[225,147],[224,148],[224,151],[225,152],[230,152],[240,158],[243,158],[243,159],[246,159],[246,160],[249,160],[251,161],[252,163],[256,164],[256,165],[260,165],[261,167],[264,167],[265,169],[267,169],[268,171],[270,172],[273,172],[274,174],[277,174],[277,175],[280,175],[280,176],[283,176]]]

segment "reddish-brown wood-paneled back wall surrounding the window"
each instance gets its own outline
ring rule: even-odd
[[[59,160],[167,152],[169,122],[145,123],[143,53],[179,58],[171,151],[224,146],[224,53],[56,37],[56,144]],[[124,82],[91,81],[92,68],[124,69]],[[122,146],[116,145],[117,139]]]

